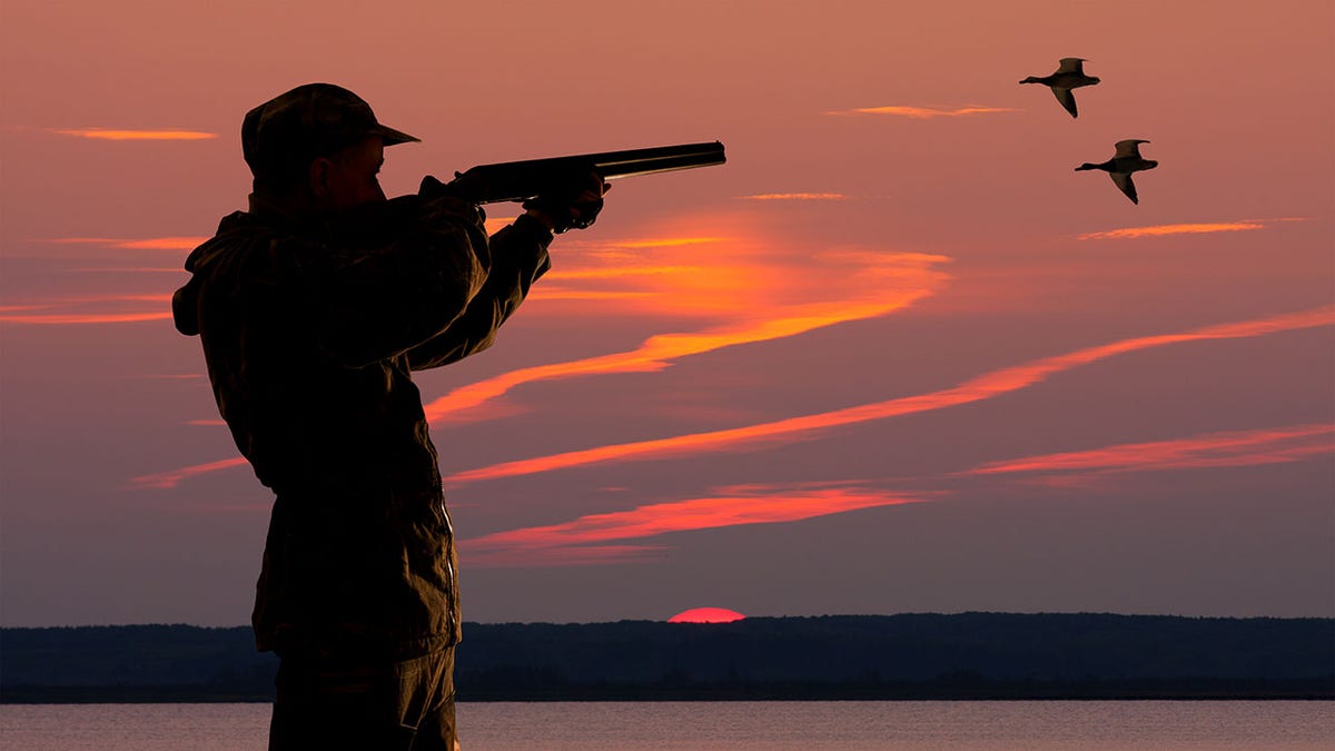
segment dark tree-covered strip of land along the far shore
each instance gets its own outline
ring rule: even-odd
[[[0,629],[0,700],[268,702],[250,628]],[[1335,620],[1077,615],[467,624],[459,699],[1335,699]]]

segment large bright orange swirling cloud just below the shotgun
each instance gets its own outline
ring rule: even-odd
[[[461,386],[429,402],[427,420],[486,418],[477,408],[525,384],[650,373],[685,357],[886,315],[934,294],[949,279],[937,269],[951,262],[944,255],[869,249],[789,254],[781,242],[745,227],[732,230],[577,245],[578,253],[566,258],[571,267],[545,277],[530,302],[565,302],[581,317],[638,314],[721,323],[651,335],[631,350],[525,367]],[[611,301],[615,309],[606,305]]]

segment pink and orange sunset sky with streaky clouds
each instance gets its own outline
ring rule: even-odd
[[[1335,616],[1331,3],[368,8],[0,8],[4,625],[248,621],[271,494],[170,295],[310,82],[423,139],[391,195],[726,147],[415,376],[466,620]],[[1017,83],[1068,56],[1077,119]],[[1123,139],[1139,204],[1075,171]]]

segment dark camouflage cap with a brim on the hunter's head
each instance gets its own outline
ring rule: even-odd
[[[246,114],[242,156],[256,178],[284,176],[368,136],[380,136],[384,146],[422,140],[382,126],[371,106],[351,91],[308,83]]]

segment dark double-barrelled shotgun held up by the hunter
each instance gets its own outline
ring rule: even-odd
[[[605,180],[617,180],[710,167],[724,162],[724,144],[714,140],[479,164],[466,172],[457,172],[455,183],[462,196],[474,203],[501,203],[567,190],[571,179],[583,178],[589,172],[597,172]]]

